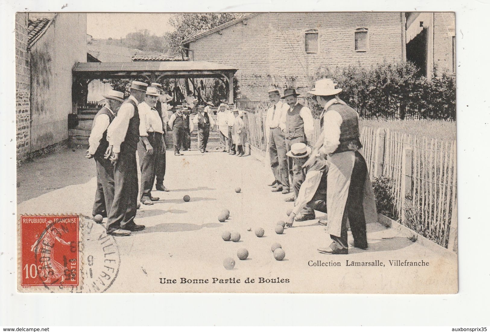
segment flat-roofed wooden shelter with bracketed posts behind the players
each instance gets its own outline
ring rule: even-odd
[[[73,66],[73,87],[93,79],[218,78],[228,83],[228,99],[233,100],[233,75],[238,69],[207,61],[77,62]],[[73,103],[76,108],[76,102]]]

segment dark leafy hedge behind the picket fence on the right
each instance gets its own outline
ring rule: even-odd
[[[411,62],[382,63],[369,68],[358,64],[332,71],[320,67],[312,77],[312,86],[325,77],[343,89],[340,98],[361,117],[456,119],[455,78],[436,67],[432,79],[422,76]],[[316,113],[315,98],[309,96],[308,101],[312,101],[309,105]]]

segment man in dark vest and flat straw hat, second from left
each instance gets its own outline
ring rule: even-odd
[[[114,165],[114,201],[107,216],[106,232],[125,236],[141,231],[144,225],[134,222],[138,205],[138,166],[136,148],[140,141],[138,104],[145,99],[147,84],[133,81],[131,95],[118,111],[118,116],[107,128],[109,147],[105,158]]]

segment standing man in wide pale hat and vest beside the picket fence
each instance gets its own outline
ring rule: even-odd
[[[317,96],[323,107],[322,134],[315,145],[312,157],[305,166],[314,163],[319,152],[328,155],[327,175],[327,232],[332,243],[318,248],[322,254],[347,254],[347,218],[350,223],[354,246],[366,249],[366,222],[377,220],[376,203],[369,180],[368,167],[358,151],[359,116],[338,96],[331,79],[321,79],[309,91]]]

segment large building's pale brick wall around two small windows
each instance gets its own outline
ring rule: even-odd
[[[360,27],[368,28],[367,52],[354,49],[354,31]],[[305,51],[310,29],[319,33],[317,53]],[[196,61],[235,66],[241,93],[265,97],[270,85],[306,90],[320,66],[401,61],[401,32],[400,13],[262,13],[202,37],[190,49]]]

